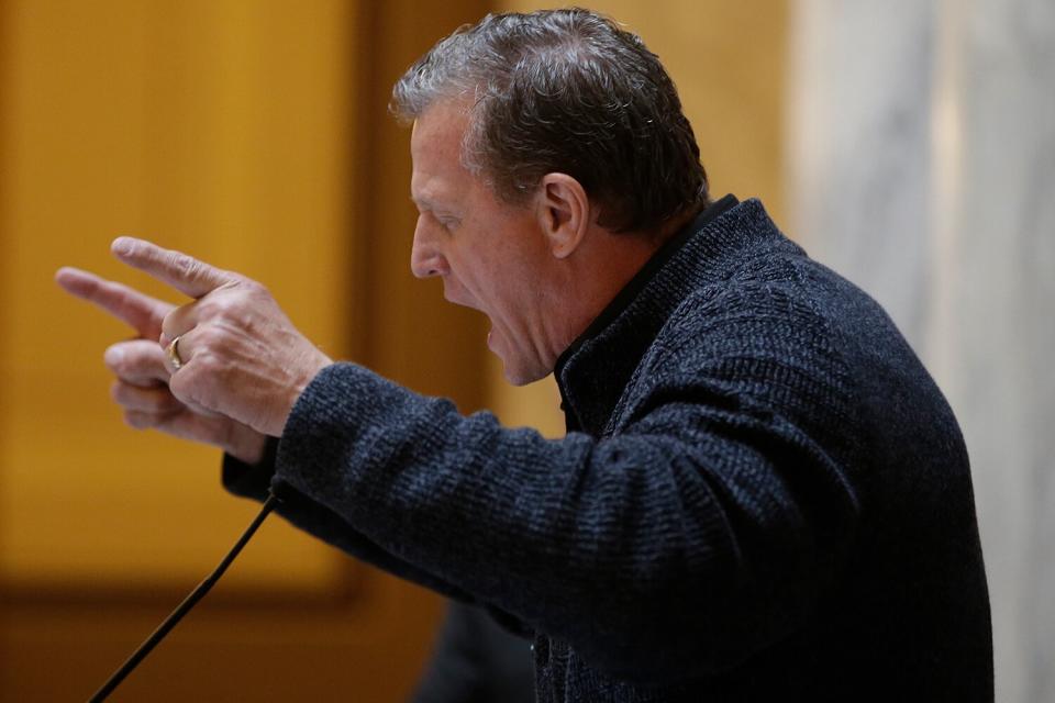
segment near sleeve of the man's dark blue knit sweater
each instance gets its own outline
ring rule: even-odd
[[[274,480],[600,670],[721,671],[814,607],[853,492],[793,422],[714,378],[659,381],[635,415],[551,440],[336,364],[293,409]]]

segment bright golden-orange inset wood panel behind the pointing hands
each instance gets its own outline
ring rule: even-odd
[[[52,274],[74,264],[179,301],[109,256],[135,233],[264,278],[337,346],[351,18],[340,2],[7,7],[0,568],[48,588],[192,582],[255,509],[216,490],[216,451],[122,425],[101,355],[130,332]],[[338,578],[327,550],[271,533],[232,580]]]

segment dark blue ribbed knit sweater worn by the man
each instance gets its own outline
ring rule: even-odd
[[[536,633],[540,701],[991,701],[966,451],[882,310],[757,201],[628,290],[564,439],[336,364],[225,482]]]

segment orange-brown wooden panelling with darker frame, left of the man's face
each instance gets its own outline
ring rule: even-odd
[[[485,3],[0,3],[0,700],[77,700],[257,506],[219,453],[124,427],[127,331],[52,282],[137,234],[266,282],[334,356],[473,410],[482,325],[409,274],[391,81]],[[477,344],[477,343],[480,344]],[[437,596],[270,518],[114,700],[400,701]]]

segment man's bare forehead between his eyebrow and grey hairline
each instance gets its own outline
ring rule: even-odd
[[[414,200],[449,197],[466,187],[466,180],[471,179],[462,164],[462,140],[467,126],[464,103],[453,101],[431,105],[414,121],[410,135],[410,190]]]

